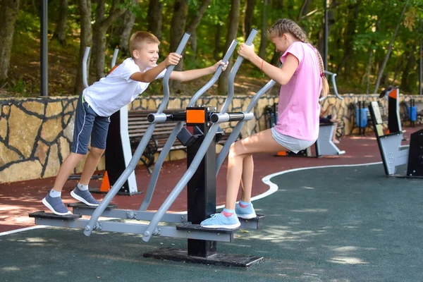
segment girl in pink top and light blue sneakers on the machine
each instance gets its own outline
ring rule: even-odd
[[[319,51],[307,42],[305,32],[292,20],[278,20],[269,30],[276,51],[282,53],[282,68],[272,66],[254,51],[254,45],[242,44],[238,51],[263,73],[281,85],[278,122],[274,128],[233,143],[228,156],[226,204],[223,212],[202,221],[204,228],[237,228],[238,217],[256,216],[251,204],[253,153],[290,150],[297,153],[317,140],[319,135],[319,96],[329,92]],[[241,200],[235,204],[240,183]],[[237,217],[238,216],[238,217]]]

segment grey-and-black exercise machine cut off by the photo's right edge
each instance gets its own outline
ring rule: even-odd
[[[410,145],[401,145],[404,131],[392,132],[389,130],[389,133],[384,133],[383,121],[377,102],[372,102],[369,105],[369,112],[386,176],[423,178],[423,129],[412,133]],[[406,174],[397,174],[398,166],[403,164],[407,164]]]

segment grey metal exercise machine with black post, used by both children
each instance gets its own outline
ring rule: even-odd
[[[251,44],[252,39],[254,39],[257,34],[257,30],[253,30],[250,36],[247,38],[246,44]],[[188,41],[188,34],[185,34],[180,45],[177,49],[177,53],[180,54],[186,42]],[[228,58],[231,56],[231,53],[235,49],[236,42],[233,42],[230,49],[226,53],[223,61],[228,61]],[[238,56],[232,70],[229,75],[228,82],[228,97],[226,98],[225,103],[223,104],[221,111],[219,113],[214,113],[209,111],[207,107],[188,107],[187,111],[179,112],[174,114],[162,114],[164,107],[168,102],[168,78],[173,69],[173,66],[169,66],[166,74],[164,75],[164,99],[162,100],[157,114],[150,114],[149,121],[151,124],[147,131],[142,137],[140,144],[138,145],[133,158],[131,159],[128,167],[125,168],[122,175],[118,178],[115,185],[109,190],[104,200],[99,204],[99,206],[94,209],[87,207],[85,204],[72,204],[73,212],[75,214],[70,216],[56,216],[54,214],[46,214],[44,212],[37,212],[30,214],[30,216],[35,217],[36,224],[44,224],[51,226],[63,226],[70,228],[83,228],[85,235],[90,235],[92,231],[114,231],[121,233],[138,233],[142,234],[142,240],[148,242],[152,236],[166,236],[166,237],[176,237],[176,238],[187,238],[188,239],[188,251],[176,250],[171,254],[168,252],[163,252],[159,254],[145,254],[146,257],[159,257],[166,259],[176,259],[183,260],[186,262],[201,262],[207,264],[221,264],[221,265],[231,265],[231,266],[250,266],[254,262],[259,262],[262,260],[262,257],[253,257],[253,256],[225,256],[216,254],[216,241],[231,242],[233,240],[233,233],[235,229],[209,229],[201,228],[199,223],[203,219],[206,219],[211,214],[216,213],[216,173],[219,171],[222,159],[226,157],[228,148],[235,140],[235,132],[238,131],[237,126],[243,124],[244,121],[249,121],[254,118],[254,115],[250,113],[251,109],[257,104],[259,96],[264,92],[269,90],[271,86],[274,85],[274,81],[266,84],[262,90],[259,90],[255,97],[252,98],[252,101],[247,107],[247,111],[238,112],[238,113],[227,113],[228,106],[231,104],[233,99],[233,80],[235,74],[242,63],[243,58]],[[221,66],[214,74],[212,80],[216,81],[221,73]],[[208,83],[204,85],[202,92],[207,90],[207,87],[211,87],[213,83]],[[197,99],[200,97],[199,92],[194,95],[192,99]],[[195,103],[195,102],[193,102]],[[154,125],[159,122],[166,121],[179,121],[180,125],[185,121],[188,125],[195,125],[190,130],[183,131],[183,134],[180,134],[181,142],[187,142],[188,150],[188,169],[185,172],[184,176],[180,179],[176,187],[172,190],[171,194],[164,201],[157,212],[146,212],[143,210],[125,210],[117,209],[116,205],[110,204],[113,197],[116,195],[118,190],[121,188],[125,180],[128,178],[130,173],[133,172],[137,161],[140,159],[145,146],[151,137]],[[218,158],[216,159],[215,152],[215,142],[216,136],[219,136],[219,124],[227,121],[240,121],[237,126],[235,126],[233,133],[228,137],[228,141],[221,150]],[[179,123],[178,123],[179,124]],[[178,127],[178,126],[177,126]],[[239,126],[238,126],[239,128]],[[239,128],[240,130],[240,128]],[[180,130],[179,130],[180,132]],[[187,133],[191,133],[191,136]],[[171,140],[175,140],[175,135],[177,135],[178,130],[174,132],[169,137],[169,144],[166,142],[163,151],[169,149],[172,145]],[[239,134],[239,131],[238,131]],[[183,138],[183,137],[188,138]],[[193,138],[193,139],[192,139]],[[226,152],[227,151],[227,152]],[[223,154],[225,154],[223,156]],[[226,152],[226,153],[225,153]],[[165,153],[163,153],[165,154]],[[155,175],[156,166],[160,164],[157,161],[154,166],[153,175]],[[194,176],[194,177],[193,177]],[[153,177],[153,176],[152,176]],[[158,177],[158,173],[157,173]],[[167,213],[168,209],[171,207],[171,204],[176,200],[176,197],[183,190],[185,185],[188,184],[188,214],[171,214]],[[154,190],[155,185],[152,185],[152,190]],[[148,194],[148,193],[147,193]],[[78,214],[77,214],[78,213]],[[85,219],[80,219],[83,215],[90,215],[91,218],[89,221]],[[116,221],[98,221],[99,216],[120,218],[120,219],[137,219],[150,221],[148,225],[145,224],[135,224],[127,222],[116,222]],[[242,228],[259,228],[259,219],[262,216],[257,216],[255,219],[242,220]],[[60,219],[60,220],[58,220]],[[67,220],[65,220],[67,219]],[[159,222],[166,223],[180,223],[176,226],[158,226]]]

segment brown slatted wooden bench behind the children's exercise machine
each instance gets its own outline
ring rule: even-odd
[[[172,114],[178,111],[185,111],[185,109],[166,109],[163,111],[164,114]],[[135,151],[138,144],[140,143],[142,136],[145,135],[145,130],[151,123],[147,121],[149,114],[155,114],[157,110],[134,110],[128,111],[128,134],[130,138],[131,149]],[[147,167],[149,173],[152,173],[152,166],[154,165],[155,154],[161,152],[169,135],[171,135],[173,128],[175,128],[178,121],[170,121],[166,123],[156,123],[152,138],[149,140],[147,147],[145,148],[141,161]],[[230,133],[226,133],[221,137],[219,142],[216,144],[223,145],[228,140]],[[180,143],[176,138],[171,150],[183,149],[186,151],[186,147]]]

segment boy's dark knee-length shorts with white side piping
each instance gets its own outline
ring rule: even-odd
[[[109,116],[99,116],[96,114],[90,105],[84,101],[84,97],[81,94],[78,99],[78,106],[76,106],[71,152],[87,154],[90,137],[91,147],[106,149],[109,123]]]

